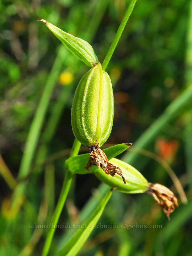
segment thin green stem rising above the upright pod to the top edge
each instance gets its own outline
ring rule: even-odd
[[[123,17],[123,19],[121,21],[121,24],[119,25],[119,28],[117,30],[117,33],[116,33],[114,39],[113,39],[113,42],[112,42],[112,44],[111,44],[111,46],[110,46],[110,48],[108,50],[108,53],[107,53],[107,55],[106,55],[106,57],[105,57],[105,59],[104,59],[104,61],[102,63],[103,70],[105,70],[106,67],[109,64],[109,61],[110,61],[110,59],[111,59],[111,57],[113,55],[113,52],[114,52],[114,50],[115,50],[115,48],[117,46],[117,43],[119,42],[121,34],[123,33],[125,25],[127,24],[127,21],[129,19],[129,16],[131,15],[131,13],[133,11],[133,8],[135,6],[136,1],[137,0],[132,0],[131,3],[129,4],[128,8],[127,8],[127,11],[126,11],[126,13],[125,13],[125,15],[124,15],[124,17]]]

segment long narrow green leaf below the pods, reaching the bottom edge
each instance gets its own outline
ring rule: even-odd
[[[73,256],[76,255],[81,247],[84,245],[85,241],[88,239],[92,230],[95,228],[96,223],[98,222],[106,203],[110,199],[112,194],[112,189],[110,189],[98,207],[94,210],[94,212],[90,215],[90,217],[81,225],[81,228],[77,230],[77,232],[71,237],[71,239],[66,243],[66,245],[59,251],[56,256],[65,255],[65,256]]]

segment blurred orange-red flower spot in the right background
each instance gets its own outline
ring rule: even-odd
[[[164,137],[160,137],[156,140],[155,147],[160,157],[167,162],[172,162],[179,148],[179,142],[177,140],[166,141]]]

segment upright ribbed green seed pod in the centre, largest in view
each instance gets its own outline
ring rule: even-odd
[[[110,77],[98,62],[80,80],[71,109],[77,140],[88,147],[108,139],[113,125],[113,89]]]

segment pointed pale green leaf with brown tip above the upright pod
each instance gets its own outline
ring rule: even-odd
[[[57,28],[47,20],[42,19],[38,21],[44,22],[53,34],[57,36],[57,38],[59,38],[59,40],[61,40],[61,42],[69,49],[69,51],[82,60],[86,65],[93,67],[94,63],[98,61],[92,46],[88,42]]]

